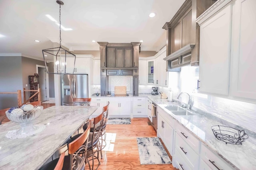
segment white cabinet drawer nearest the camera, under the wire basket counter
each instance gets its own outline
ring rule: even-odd
[[[223,170],[233,169],[222,158],[203,144],[201,145],[200,158],[212,169],[216,169],[216,167]]]

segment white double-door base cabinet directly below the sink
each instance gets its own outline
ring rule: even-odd
[[[164,145],[173,155],[173,119],[158,107],[157,136],[162,139]]]

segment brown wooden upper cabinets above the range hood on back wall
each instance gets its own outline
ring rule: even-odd
[[[108,43],[100,45],[100,67],[110,69],[138,69],[141,43]]]

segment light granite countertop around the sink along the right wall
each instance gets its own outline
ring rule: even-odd
[[[130,97],[133,97],[132,95]],[[153,96],[151,94],[139,94],[134,97],[147,97],[152,102],[161,107],[166,113],[173,117],[174,120],[188,131],[192,132],[204,145],[208,146],[218,156],[223,158],[234,169],[255,169],[256,167],[256,133],[244,127],[230,123],[219,117],[215,117],[210,113],[203,111],[195,112],[194,115],[174,115],[165,106],[177,106],[177,102],[168,102],[167,99],[161,99],[160,95]],[[192,107],[193,109],[193,107]],[[242,145],[226,144],[223,141],[216,139],[211,127],[214,125],[224,125],[233,127],[239,130],[244,130],[249,136]]]

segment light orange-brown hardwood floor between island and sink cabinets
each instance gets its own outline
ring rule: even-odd
[[[107,133],[116,133],[116,139],[112,142],[114,150],[102,152],[98,170],[176,170],[172,164],[140,165],[136,138],[156,137],[156,132],[147,122],[148,118],[134,118],[131,125],[107,125]]]

